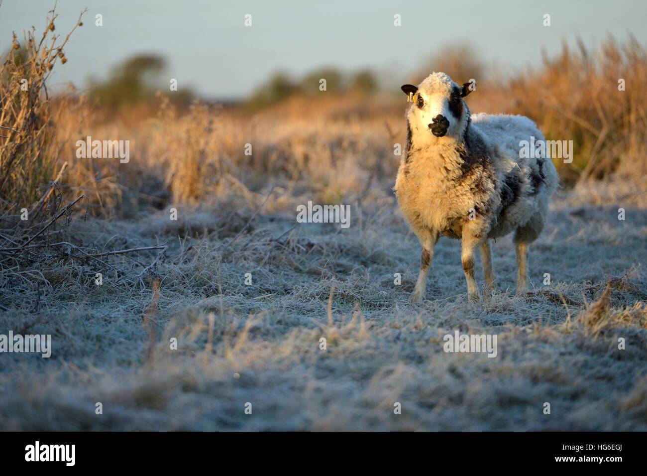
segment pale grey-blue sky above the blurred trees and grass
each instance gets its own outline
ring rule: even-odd
[[[42,32],[50,0],[2,0],[0,52],[11,32]],[[190,84],[207,98],[241,98],[283,70],[301,76],[333,65],[353,72],[369,67],[384,82],[401,84],[424,60],[451,41],[474,45],[488,65],[521,69],[540,64],[542,46],[560,51],[562,40],[587,46],[628,32],[647,43],[645,0],[59,0],[56,32],[67,34],[79,12],[84,25],[57,65],[52,86],[102,79],[124,58],[159,53],[164,76]],[[104,25],[94,25],[95,14]],[[245,27],[245,14],[252,27]],[[402,26],[393,25],[393,16]],[[543,14],[551,26],[543,26]]]

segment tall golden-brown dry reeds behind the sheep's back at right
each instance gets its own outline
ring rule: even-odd
[[[619,81],[624,88],[619,90]],[[564,45],[510,84],[512,110],[536,120],[548,139],[573,141],[573,163],[557,163],[562,181],[602,179],[617,172],[647,175],[647,52],[631,37],[606,40],[600,51]],[[538,94],[527,94],[538,91]]]

